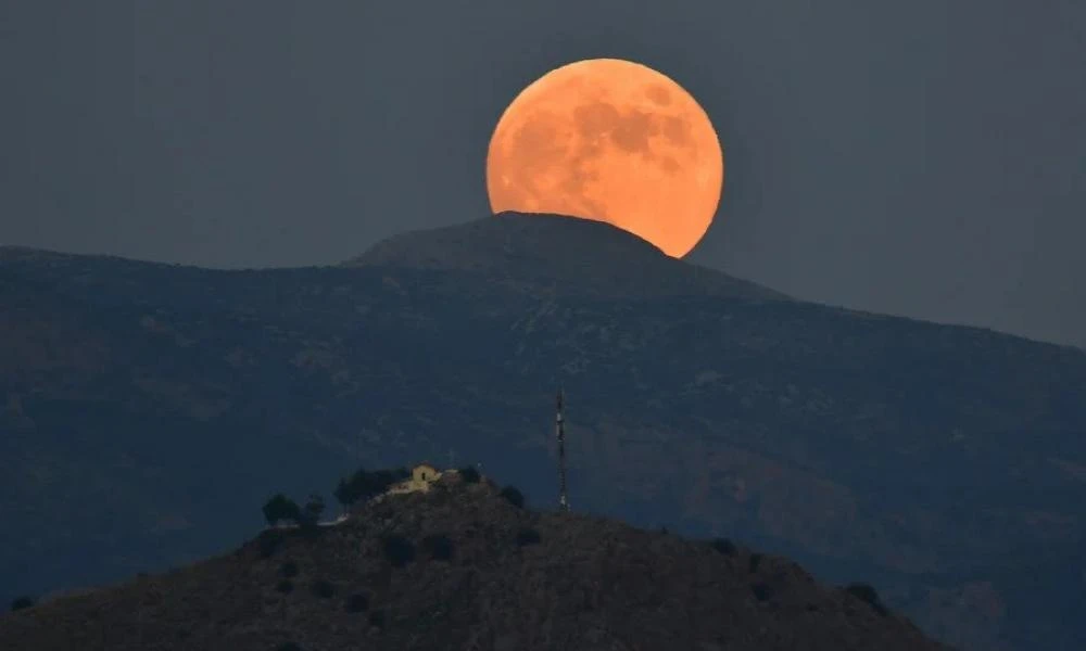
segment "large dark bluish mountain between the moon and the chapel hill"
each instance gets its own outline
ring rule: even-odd
[[[553,499],[559,383],[578,511],[871,583],[968,649],[1086,648],[1086,353],[516,215],[331,268],[0,248],[0,598],[219,553],[359,463]]]

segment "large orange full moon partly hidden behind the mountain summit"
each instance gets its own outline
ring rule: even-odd
[[[694,98],[619,59],[536,79],[505,110],[487,153],[494,213],[606,221],[672,257],[705,234],[723,181],[720,140]]]

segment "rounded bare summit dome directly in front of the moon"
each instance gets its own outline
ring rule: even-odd
[[[786,299],[783,294],[675,259],[602,221],[565,215],[500,213],[465,224],[394,235],[348,267],[440,269],[492,277],[539,291],[609,297],[711,294]]]

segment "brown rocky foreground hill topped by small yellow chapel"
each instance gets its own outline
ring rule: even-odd
[[[0,648],[943,648],[876,600],[759,557],[527,511],[446,475],[333,528],[268,531],[228,556],[11,613]]]

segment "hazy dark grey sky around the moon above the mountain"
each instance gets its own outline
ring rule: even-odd
[[[502,110],[592,56],[721,136],[694,261],[1086,346],[1082,0],[5,2],[0,243],[294,266],[477,218]]]

